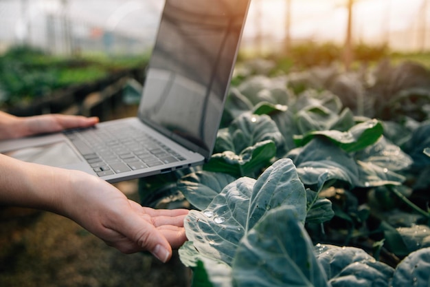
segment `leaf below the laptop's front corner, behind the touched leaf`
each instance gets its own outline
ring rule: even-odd
[[[192,206],[203,210],[206,209],[216,195],[234,180],[236,178],[227,173],[198,171],[181,178],[177,183],[177,188]]]

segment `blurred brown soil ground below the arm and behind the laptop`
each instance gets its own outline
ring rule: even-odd
[[[137,107],[116,109],[112,118],[135,116]],[[139,202],[137,180],[115,184]],[[163,264],[148,253],[126,255],[75,222],[45,211],[0,206],[2,287],[182,287],[190,269],[177,251]]]

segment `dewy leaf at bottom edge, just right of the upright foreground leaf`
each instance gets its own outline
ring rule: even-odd
[[[394,269],[360,248],[317,244],[315,252],[332,287],[391,286]]]

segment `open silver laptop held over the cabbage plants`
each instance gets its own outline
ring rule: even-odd
[[[107,182],[212,156],[250,0],[166,0],[137,116],[0,142],[0,153]]]

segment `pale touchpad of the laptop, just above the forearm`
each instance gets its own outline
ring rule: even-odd
[[[73,149],[64,141],[38,147],[25,147],[4,154],[25,162],[45,164],[52,167],[63,167],[81,162]]]

